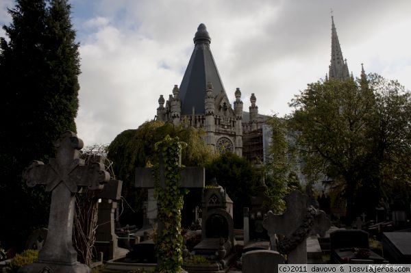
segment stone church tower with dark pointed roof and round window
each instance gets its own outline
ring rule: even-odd
[[[199,25],[193,40],[194,51],[182,83],[179,88],[174,86],[165,106],[164,97],[160,95],[157,118],[174,125],[203,128],[205,141],[214,151],[230,151],[242,156],[240,89],[235,91],[233,108],[210,50],[211,38],[206,25]]]

